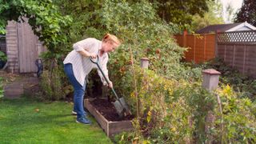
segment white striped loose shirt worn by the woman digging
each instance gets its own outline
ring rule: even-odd
[[[108,62],[108,54],[104,53],[102,57],[99,56],[99,51],[102,49],[102,41],[99,41],[96,38],[86,38],[82,41],[76,42],[73,45],[74,50],[67,54],[64,64],[71,63],[73,66],[74,77],[77,81],[84,85],[87,74],[90,73],[90,70],[93,68],[98,69],[96,64],[90,62],[90,58],[83,57],[82,54],[79,54],[78,51],[86,50],[89,53],[98,54],[99,66],[101,66],[103,73],[106,75],[106,78],[109,80],[108,70],[106,68],[106,63]],[[102,76],[100,70],[98,70],[98,75],[100,76],[103,85],[106,85],[106,80]]]

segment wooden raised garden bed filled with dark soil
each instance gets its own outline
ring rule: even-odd
[[[86,109],[94,116],[108,137],[133,129],[133,116],[119,118],[111,102],[107,98],[85,99]]]

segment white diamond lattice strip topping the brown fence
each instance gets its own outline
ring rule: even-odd
[[[218,33],[217,42],[256,42],[256,30]]]

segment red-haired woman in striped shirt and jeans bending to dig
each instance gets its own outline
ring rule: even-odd
[[[74,110],[72,114],[77,114],[76,122],[90,124],[90,120],[86,118],[86,112],[83,108],[83,97],[86,90],[86,78],[90,70],[97,68],[97,66],[90,62],[90,58],[99,58],[99,65],[102,71],[108,77],[108,70],[106,63],[108,62],[108,52],[114,51],[120,45],[120,41],[112,34],[106,34],[102,41],[95,38],[86,38],[73,45],[72,50],[64,60],[64,70],[74,87]],[[106,80],[98,70],[103,85],[107,85]],[[110,81],[109,81],[110,82]],[[112,82],[108,85],[113,87]]]

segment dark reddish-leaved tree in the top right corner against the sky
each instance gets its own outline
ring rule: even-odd
[[[238,10],[234,22],[248,22],[256,26],[256,1],[244,0],[242,7]]]

